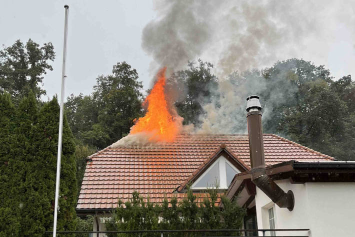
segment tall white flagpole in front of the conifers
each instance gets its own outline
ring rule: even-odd
[[[64,44],[63,44],[63,67],[61,71],[61,92],[60,92],[60,113],[59,113],[59,133],[58,133],[58,154],[56,160],[56,180],[55,180],[55,201],[54,201],[54,222],[53,222],[53,237],[56,236],[56,219],[59,197],[59,181],[60,181],[60,159],[61,159],[61,136],[63,129],[63,104],[64,104],[64,87],[65,87],[65,58],[66,58],[66,39],[68,33],[68,10],[69,6],[64,5],[65,20],[64,20]]]

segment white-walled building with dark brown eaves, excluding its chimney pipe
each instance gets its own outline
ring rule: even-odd
[[[239,205],[249,207],[245,228],[309,228],[309,236],[353,236],[355,162],[290,160],[267,166],[266,174],[283,190],[293,192],[294,207],[292,211],[280,208],[251,182],[250,173],[239,173],[226,195],[233,198],[239,194]],[[299,231],[272,234],[300,235]]]

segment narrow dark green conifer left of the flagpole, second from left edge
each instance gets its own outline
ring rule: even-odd
[[[35,96],[32,92],[24,97],[17,109],[17,131],[16,145],[13,149],[17,163],[21,167],[17,171],[21,174],[21,181],[15,185],[17,196],[20,200],[22,236],[42,236],[45,228],[45,215],[42,212],[46,204],[45,195],[38,191],[36,181],[38,167],[35,165],[38,159],[37,147],[34,145],[36,137],[35,127],[37,125],[38,111]]]

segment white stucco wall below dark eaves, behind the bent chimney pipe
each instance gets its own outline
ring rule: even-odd
[[[274,205],[256,188],[257,227],[269,228],[267,208],[274,205],[276,228],[309,228],[309,236],[355,236],[355,182],[291,184],[276,183],[287,192],[292,190],[295,204],[292,211]],[[260,233],[261,234],[261,233]],[[304,235],[306,231],[277,232],[276,235]]]

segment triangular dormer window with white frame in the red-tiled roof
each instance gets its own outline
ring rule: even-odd
[[[221,155],[192,183],[191,188],[213,188],[217,184],[218,188],[227,189],[237,173],[240,173],[240,171]]]

